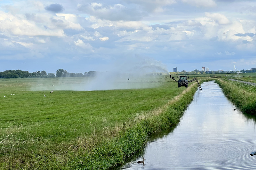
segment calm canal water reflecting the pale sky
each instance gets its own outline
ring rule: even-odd
[[[180,124],[152,138],[119,170],[256,169],[255,119],[245,116],[214,81],[204,82]],[[145,158],[145,163],[138,160]]]

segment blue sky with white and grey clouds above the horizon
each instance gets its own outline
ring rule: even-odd
[[[255,18],[252,0],[0,0],[0,71],[256,68]]]

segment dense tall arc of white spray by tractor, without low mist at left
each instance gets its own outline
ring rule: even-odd
[[[117,60],[105,70],[86,84],[84,90],[147,88],[145,85],[132,82],[148,81],[145,75],[152,73],[160,72],[169,75],[166,66],[161,61],[138,56]]]

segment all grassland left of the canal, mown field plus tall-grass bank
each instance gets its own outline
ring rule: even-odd
[[[0,168],[109,169],[123,164],[141,151],[151,133],[178,124],[193,99],[195,83],[178,88],[166,76],[161,79],[145,82],[156,86],[148,89],[53,93],[29,91],[35,79],[1,80]],[[40,83],[51,88],[54,81]]]

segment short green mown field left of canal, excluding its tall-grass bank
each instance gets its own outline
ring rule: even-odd
[[[52,88],[51,84],[56,84],[52,79],[41,81]],[[28,91],[31,86],[36,86],[35,79],[1,79],[0,82],[1,128],[22,125],[26,132],[19,132],[17,138],[29,134],[58,141],[65,138],[68,142],[84,132],[91,133],[95,126],[113,126],[116,121],[159,107],[184,90],[173,90],[176,82],[163,81],[153,82],[159,86],[149,89],[55,90],[50,93],[50,88],[47,91]]]

